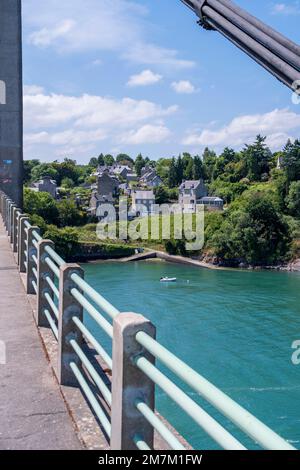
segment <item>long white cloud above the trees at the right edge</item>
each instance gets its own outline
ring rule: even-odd
[[[296,138],[300,132],[300,114],[289,109],[275,109],[266,114],[245,115],[234,118],[217,130],[204,129],[200,133],[188,133],[184,145],[241,147],[251,143],[257,134],[267,136],[273,150],[284,145],[288,138]]]

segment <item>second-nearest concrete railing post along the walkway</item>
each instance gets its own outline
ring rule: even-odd
[[[83,269],[77,264],[65,264],[60,268],[59,279],[59,321],[58,321],[58,380],[61,385],[78,387],[70,362],[74,362],[81,367],[80,359],[74,352],[70,341],[76,340],[82,345],[83,338],[81,332],[73,322],[73,317],[83,319],[83,308],[71,294],[71,290],[77,288],[72,281],[72,274],[77,274],[81,278],[84,276]]]

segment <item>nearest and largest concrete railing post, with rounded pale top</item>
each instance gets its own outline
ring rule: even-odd
[[[143,400],[154,411],[154,383],[133,362],[136,356],[143,354],[154,363],[154,358],[135,339],[139,331],[152,338],[156,334],[152,323],[141,315],[122,313],[114,319],[112,450],[137,450],[133,442],[137,433],[153,448],[153,427],[135,406],[136,400]]]

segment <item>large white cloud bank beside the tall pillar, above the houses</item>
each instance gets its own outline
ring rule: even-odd
[[[75,154],[88,157],[99,142],[110,145],[155,144],[170,131],[164,119],[177,106],[162,107],[146,100],[120,100],[84,94],[65,96],[25,87],[24,127],[25,155],[30,158]],[[29,93],[26,93],[26,90]]]

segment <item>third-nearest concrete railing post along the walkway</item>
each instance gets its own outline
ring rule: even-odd
[[[44,328],[50,328],[48,320],[45,316],[44,310],[49,310],[49,304],[45,298],[48,293],[53,298],[53,292],[47,282],[47,277],[54,282],[54,273],[46,263],[46,258],[49,257],[45,248],[50,246],[54,248],[54,243],[51,240],[41,240],[38,242],[38,280],[37,280],[37,305],[36,305],[36,324]]]

